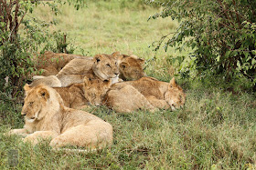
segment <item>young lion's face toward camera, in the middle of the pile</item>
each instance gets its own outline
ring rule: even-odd
[[[84,95],[91,105],[101,105],[103,97],[111,87],[111,80],[101,81],[84,77]]]

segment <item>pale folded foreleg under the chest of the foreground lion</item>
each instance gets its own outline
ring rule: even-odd
[[[32,145],[37,145],[40,140],[52,139],[58,135],[59,134],[55,131],[37,131],[31,135],[27,135],[27,137],[25,137],[23,141],[29,142]]]

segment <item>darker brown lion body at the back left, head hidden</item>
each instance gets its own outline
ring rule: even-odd
[[[71,54],[58,54],[53,52],[45,52],[44,55],[35,57],[37,70],[43,70],[42,75],[57,75],[59,71],[74,58],[82,58],[90,60],[91,57]]]

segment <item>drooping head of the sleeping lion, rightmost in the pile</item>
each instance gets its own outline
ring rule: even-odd
[[[171,106],[172,110],[176,110],[185,104],[186,95],[173,77],[165,92],[165,101]]]

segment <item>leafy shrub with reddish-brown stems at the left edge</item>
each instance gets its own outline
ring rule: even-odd
[[[77,9],[83,0],[54,2],[41,1],[0,1],[0,91],[15,97],[21,91],[27,75],[37,72],[34,68],[39,51],[51,50],[59,53],[67,51],[64,33],[48,31],[54,22],[40,21],[27,14],[32,13],[39,4],[48,5],[58,14],[58,5],[69,3]],[[27,16],[27,17],[25,17]],[[20,29],[22,26],[23,29]]]

